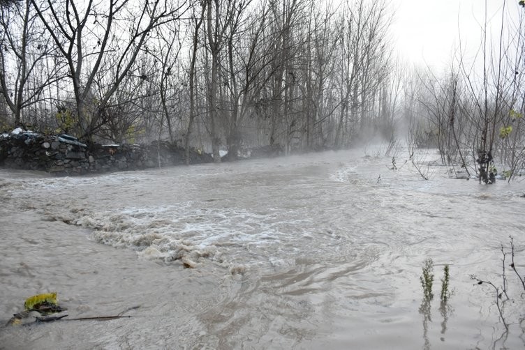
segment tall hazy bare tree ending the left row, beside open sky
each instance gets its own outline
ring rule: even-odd
[[[380,86],[389,77],[391,50],[387,32],[392,18],[385,1],[346,3],[338,20],[341,35],[339,99],[341,108],[334,146],[348,146],[349,136],[359,129],[367,138]],[[370,113],[372,112],[372,113]],[[350,130],[353,129],[353,130]],[[372,128],[373,129],[373,128]],[[342,135],[347,137],[343,142]]]

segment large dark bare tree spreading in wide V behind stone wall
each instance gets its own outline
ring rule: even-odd
[[[82,137],[87,139],[103,125],[104,109],[135,65],[151,30],[177,20],[184,13],[185,4],[154,0],[135,10],[128,0],[103,3],[31,0],[31,3],[66,61],[73,84],[78,126]],[[96,75],[110,69],[114,71],[114,78],[105,86],[98,86],[103,92],[99,100],[94,100],[91,90]]]

